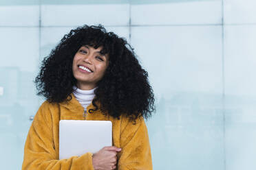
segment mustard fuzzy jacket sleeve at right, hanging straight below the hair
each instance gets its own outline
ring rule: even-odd
[[[122,122],[120,147],[122,151],[118,160],[118,169],[153,169],[149,136],[143,118],[136,124],[127,120]]]

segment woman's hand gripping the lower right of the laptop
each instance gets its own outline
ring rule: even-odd
[[[118,147],[103,147],[92,155],[92,165],[95,170],[116,169],[117,153],[121,151]]]

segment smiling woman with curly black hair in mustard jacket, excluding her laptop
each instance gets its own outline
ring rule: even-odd
[[[147,76],[123,38],[102,25],[72,29],[36,77],[47,100],[28,132],[22,169],[152,169],[144,119],[155,108]],[[58,160],[61,119],[111,121],[114,146]]]

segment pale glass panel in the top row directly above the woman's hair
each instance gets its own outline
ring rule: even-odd
[[[129,5],[43,5],[41,15],[43,26],[128,25]]]

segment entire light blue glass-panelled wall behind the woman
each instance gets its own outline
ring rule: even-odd
[[[154,169],[256,169],[256,2],[1,1],[1,169],[21,169],[43,57],[79,25],[135,48],[156,95]]]

